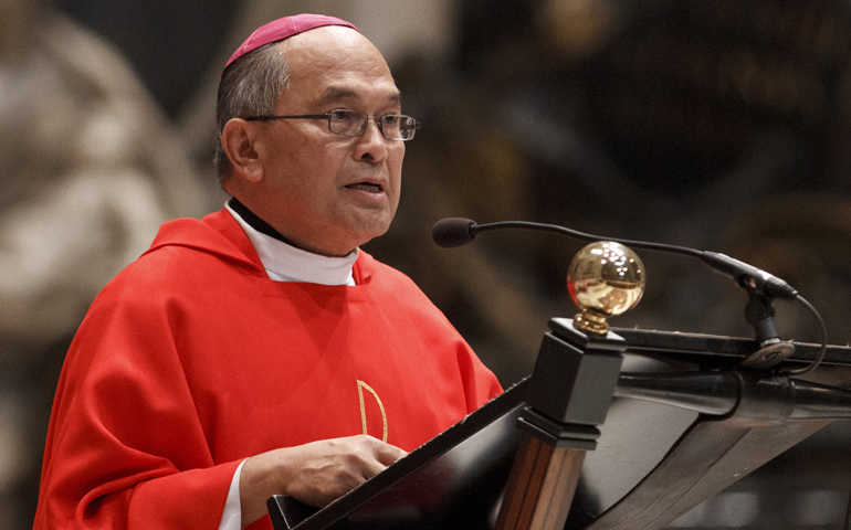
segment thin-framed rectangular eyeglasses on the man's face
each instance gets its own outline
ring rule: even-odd
[[[275,119],[327,119],[328,130],[343,136],[364,136],[367,124],[375,120],[381,136],[388,140],[412,140],[413,134],[421,127],[410,116],[401,114],[385,114],[377,118],[357,110],[332,110],[325,114],[303,114],[300,116],[250,116],[246,121],[271,121]]]

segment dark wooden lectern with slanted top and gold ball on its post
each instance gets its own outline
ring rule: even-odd
[[[276,530],[661,529],[851,417],[850,348],[609,329],[643,265],[601,253],[618,274],[571,271],[584,310],[550,321],[529,378],[322,510],[270,498]]]

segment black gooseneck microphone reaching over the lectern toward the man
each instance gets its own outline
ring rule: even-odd
[[[643,248],[645,251],[665,252],[669,254],[682,254],[701,259],[716,273],[723,274],[735,280],[743,288],[756,293],[767,298],[796,299],[798,292],[785,280],[761,271],[753,265],[740,262],[717,252],[698,251],[685,246],[666,245],[663,243],[651,243],[647,241],[631,241],[616,237],[601,237],[599,235],[587,234],[555,224],[533,223],[527,221],[502,221],[496,223],[477,224],[472,219],[446,218],[441,219],[431,231],[431,237],[439,246],[444,248],[455,248],[463,246],[475,239],[481,232],[493,230],[522,229],[534,230],[537,232],[550,232],[566,235],[581,241],[613,241],[631,248]]]

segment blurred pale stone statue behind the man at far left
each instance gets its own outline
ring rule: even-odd
[[[38,1],[0,0],[0,518],[29,528],[83,315],[160,223],[211,199],[125,61]]]

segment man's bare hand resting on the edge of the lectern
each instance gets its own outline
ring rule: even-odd
[[[323,507],[382,471],[407,453],[372,436],[323,439],[245,460],[240,474],[242,526],[266,513],[266,499],[287,495]]]

